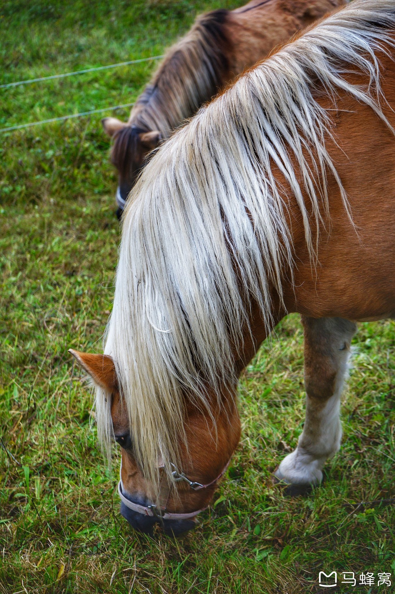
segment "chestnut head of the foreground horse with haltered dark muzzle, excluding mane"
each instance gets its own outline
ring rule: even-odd
[[[72,349],[70,352],[96,387],[108,394],[111,431],[113,439],[121,446],[118,492],[122,516],[141,532],[151,532],[156,523],[162,525],[167,534],[175,536],[194,527],[197,513],[210,503],[240,438],[234,399],[229,399],[229,404],[221,411],[213,405],[212,419],[197,407],[186,407],[187,440],[182,440],[179,460],[168,468],[158,460],[157,484],[154,485],[144,476],[135,459],[127,407],[122,402],[122,388],[112,359]]]

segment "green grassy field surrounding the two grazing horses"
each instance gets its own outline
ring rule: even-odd
[[[235,4],[3,2],[0,84],[158,55],[197,12],[224,5]],[[152,68],[0,89],[0,127],[131,102]],[[393,321],[360,325],[342,450],[308,497],[271,484],[304,419],[302,331],[291,315],[241,378],[241,443],[197,529],[148,538],[119,515],[116,449],[109,471],[67,352],[100,352],[112,307],[108,149],[100,116],[1,134],[0,592],[318,593],[328,591],[321,570],[356,574],[355,587],[330,591],[390,592],[377,582],[395,573],[394,501],[377,500],[395,498]],[[362,572],[374,585],[359,585]]]

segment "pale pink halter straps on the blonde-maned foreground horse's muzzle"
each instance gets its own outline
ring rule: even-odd
[[[225,474],[227,467],[229,466],[230,460],[226,463],[225,468],[220,472],[220,474],[215,478],[213,481],[207,483],[206,485],[202,485],[201,483],[195,481],[189,481],[187,476],[184,475],[184,472],[178,472],[175,465],[172,464],[173,471],[172,477],[175,482],[185,481],[188,483],[189,488],[193,491],[200,491],[200,489],[206,489],[208,486],[213,485]],[[125,497],[122,493],[124,486],[122,485],[122,477],[121,477],[121,470],[122,470],[122,459],[121,459],[121,466],[119,467],[119,483],[118,483],[118,495],[121,498],[121,501],[129,510],[137,511],[139,514],[144,514],[145,516],[156,516],[160,520],[188,520],[189,518],[197,516],[200,514],[201,511],[207,510],[207,507],[202,507],[200,510],[197,511],[190,511],[186,514],[176,514],[176,513],[169,513],[166,511],[166,507],[157,507],[157,505],[139,505],[138,503],[134,503]]]

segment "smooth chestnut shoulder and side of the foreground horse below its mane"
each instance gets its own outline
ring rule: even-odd
[[[390,43],[383,43],[383,53],[378,53],[378,59],[382,73],[381,91],[385,97],[381,105],[394,129],[395,62],[392,48]],[[366,75],[356,77],[349,72],[344,78],[352,84],[357,81],[361,89],[368,88]],[[368,321],[392,317],[395,266],[393,243],[389,238],[395,225],[393,131],[378,118],[371,106],[352,97],[346,90],[337,91],[335,105],[324,92],[317,100],[333,116],[336,135],[333,139],[327,138],[326,149],[346,188],[352,223],[345,210],[339,183],[327,170],[325,185],[329,212],[326,215],[321,201],[323,222],[318,227],[317,259],[311,258],[299,206],[286,180],[276,171],[279,186],[285,197],[289,197],[286,217],[295,262],[293,282],[288,274],[283,283],[285,306],[289,312],[296,311],[313,318],[343,317]],[[314,170],[311,158],[308,166]],[[295,172],[298,176],[296,162]],[[299,183],[302,186],[300,177]],[[308,219],[313,222],[311,202],[306,192],[303,193]],[[317,228],[314,223],[311,232],[315,245]]]

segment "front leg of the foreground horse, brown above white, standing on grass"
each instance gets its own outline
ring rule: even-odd
[[[296,450],[276,470],[277,479],[314,485],[328,457],[340,448],[340,394],[356,324],[343,318],[308,318],[304,326],[306,418]]]

